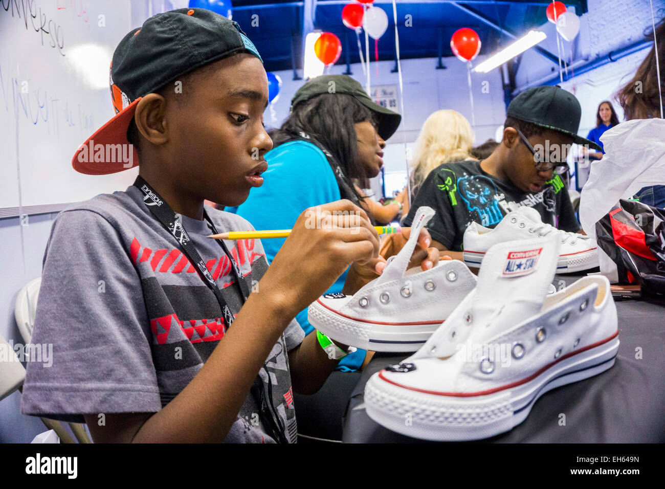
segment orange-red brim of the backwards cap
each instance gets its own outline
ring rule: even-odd
[[[124,156],[128,154],[125,149],[128,146],[125,145],[130,144],[127,140],[127,129],[134,118],[136,104],[139,100],[141,100],[140,97],[126,106],[122,112],[118,112],[114,118],[78,146],[74,158],[72,158],[74,170],[86,175],[108,175],[129,170],[138,165],[138,152],[134,146],[130,148],[132,150],[131,159],[124,161],[126,159]],[[102,151],[98,150],[98,145],[101,145]],[[120,145],[119,152],[116,145]]]

